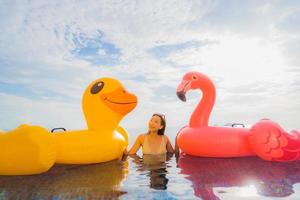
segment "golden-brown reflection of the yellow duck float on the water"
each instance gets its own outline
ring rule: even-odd
[[[34,176],[0,176],[0,199],[115,199],[128,162],[57,165]]]

